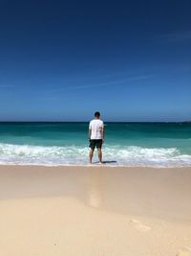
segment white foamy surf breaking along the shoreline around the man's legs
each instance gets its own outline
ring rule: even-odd
[[[88,147],[43,147],[0,143],[0,164],[86,165],[88,151]],[[191,166],[191,155],[181,154],[176,148],[145,149],[104,145],[103,161],[106,165],[112,166]]]

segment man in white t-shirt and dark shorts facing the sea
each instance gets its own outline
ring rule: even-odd
[[[89,141],[90,141],[90,152],[89,152],[89,159],[90,163],[92,164],[93,155],[95,148],[97,149],[98,153],[98,161],[102,163],[102,143],[104,141],[104,125],[103,121],[99,119],[100,113],[97,111],[95,113],[95,119],[90,122],[89,125]]]

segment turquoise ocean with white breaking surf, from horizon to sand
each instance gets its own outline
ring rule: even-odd
[[[88,151],[87,122],[0,123],[0,164],[88,165]],[[105,123],[103,162],[191,166],[191,123]]]

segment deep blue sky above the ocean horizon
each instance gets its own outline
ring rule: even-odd
[[[191,1],[0,1],[0,121],[191,120]]]

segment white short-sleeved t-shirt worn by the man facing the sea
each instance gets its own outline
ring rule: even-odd
[[[101,129],[104,127],[103,121],[100,119],[94,119],[90,122],[89,129],[92,129],[91,140],[102,139]]]

